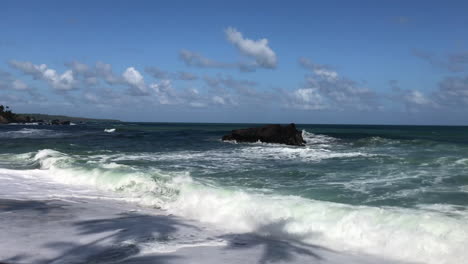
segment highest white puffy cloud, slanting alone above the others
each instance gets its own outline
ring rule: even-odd
[[[233,27],[227,28],[225,34],[230,43],[242,54],[253,58],[258,66],[263,68],[276,68],[276,54],[268,46],[268,39],[251,40],[244,38],[242,33]]]

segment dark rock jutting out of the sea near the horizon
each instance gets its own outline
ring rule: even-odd
[[[237,142],[260,141],[293,146],[304,146],[306,143],[302,138],[302,132],[296,129],[295,124],[237,129],[233,130],[230,135],[223,136],[223,140],[235,140]]]

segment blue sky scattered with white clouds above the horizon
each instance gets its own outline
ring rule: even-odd
[[[142,122],[468,125],[467,1],[0,2],[0,104]]]

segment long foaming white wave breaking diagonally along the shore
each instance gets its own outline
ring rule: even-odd
[[[468,211],[447,215],[437,207],[353,206],[221,188],[193,179],[187,171],[142,169],[104,156],[90,160],[45,149],[15,158],[36,162],[43,177],[113,191],[129,202],[160,207],[229,231],[300,239],[415,262],[463,263],[468,258]]]

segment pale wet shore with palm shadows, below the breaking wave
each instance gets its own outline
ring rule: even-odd
[[[1,263],[395,263],[261,235],[283,223],[229,233],[43,179],[0,181]]]

